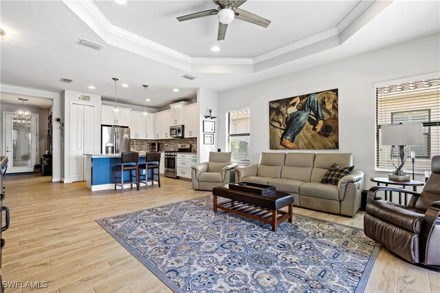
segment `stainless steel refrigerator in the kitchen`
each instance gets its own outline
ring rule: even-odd
[[[124,126],[101,125],[101,153],[130,151],[130,129]]]

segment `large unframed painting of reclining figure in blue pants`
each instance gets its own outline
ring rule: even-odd
[[[269,102],[270,149],[339,149],[338,89]]]

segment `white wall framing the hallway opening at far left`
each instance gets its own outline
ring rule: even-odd
[[[23,96],[34,96],[39,98],[49,98],[52,100],[52,122],[54,123],[54,141],[52,152],[52,181],[61,181],[61,135],[55,125],[55,118],[61,116],[61,94],[53,91],[41,91],[40,89],[30,89],[28,87],[16,87],[13,85],[0,85],[0,91],[9,94]]]

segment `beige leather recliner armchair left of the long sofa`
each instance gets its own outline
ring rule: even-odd
[[[201,191],[212,191],[215,186],[234,182],[234,169],[230,152],[210,152],[209,162],[191,166],[192,188]]]

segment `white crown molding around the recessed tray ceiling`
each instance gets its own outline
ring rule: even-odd
[[[328,41],[332,40],[332,47],[340,45],[345,39],[340,41],[339,35],[349,28],[353,21],[358,19],[374,2],[375,0],[362,0],[336,27],[254,58],[199,58],[188,56],[113,25],[92,0],[63,0],[67,7],[77,14],[91,30],[94,30],[109,45],[184,69],[187,72],[218,73],[257,72],[262,68],[267,69],[279,65],[281,59],[283,59],[283,62],[290,62],[303,58],[306,49],[311,49],[312,54],[327,50],[329,47],[322,46],[323,42],[329,43]],[[263,63],[265,63],[264,66],[259,66]],[[240,66],[243,68],[240,68]]]

